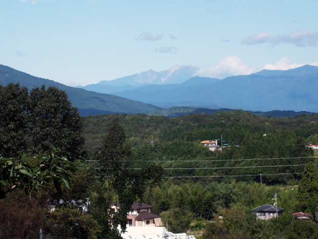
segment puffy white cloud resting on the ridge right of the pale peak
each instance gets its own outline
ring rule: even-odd
[[[255,69],[242,64],[238,56],[227,56],[216,67],[204,67],[197,71],[197,75],[201,77],[225,78],[228,76],[248,75]]]

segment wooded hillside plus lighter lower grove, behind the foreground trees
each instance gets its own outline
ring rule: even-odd
[[[307,227],[294,222],[292,213],[314,215],[316,180],[305,189],[298,185],[308,177],[307,173],[302,177],[305,165],[317,163],[315,150],[306,147],[318,144],[317,115],[272,118],[239,110],[177,118],[83,117],[87,159],[98,150],[115,117],[132,145],[130,167],[139,170],[151,162],[164,167],[162,183],[149,188],[141,200],[153,205],[153,212],[173,232],[190,230],[190,234],[203,233],[204,238],[289,238],[286,235],[300,235]],[[226,145],[222,151],[212,152],[200,144],[215,139]],[[98,161],[89,163],[98,167]],[[250,210],[273,204],[275,193],[278,206],[285,209],[284,217],[256,222]],[[224,217],[223,223],[219,216]],[[308,230],[312,230],[309,236],[318,235],[316,228]]]

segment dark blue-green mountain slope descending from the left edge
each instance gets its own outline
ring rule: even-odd
[[[42,85],[46,87],[55,86],[67,92],[72,105],[77,107],[79,113],[83,113],[83,115],[96,115],[99,113],[136,114],[158,109],[158,107],[146,103],[66,86],[55,81],[31,76],[14,70],[13,68],[0,65],[0,85],[6,86],[9,83],[19,83],[20,86],[26,86],[29,90]]]

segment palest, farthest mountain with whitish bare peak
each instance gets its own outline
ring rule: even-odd
[[[100,81],[97,84],[77,86],[77,88],[109,94],[133,90],[149,84],[180,84],[195,76],[197,70],[196,67],[192,66],[176,65],[165,71],[156,72],[154,70],[149,70],[111,81]]]

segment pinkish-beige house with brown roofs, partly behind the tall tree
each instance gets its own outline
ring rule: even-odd
[[[120,209],[118,202],[110,205],[111,210],[117,212]],[[161,218],[151,212],[153,206],[134,202],[127,215],[127,227],[159,227],[162,226]]]

